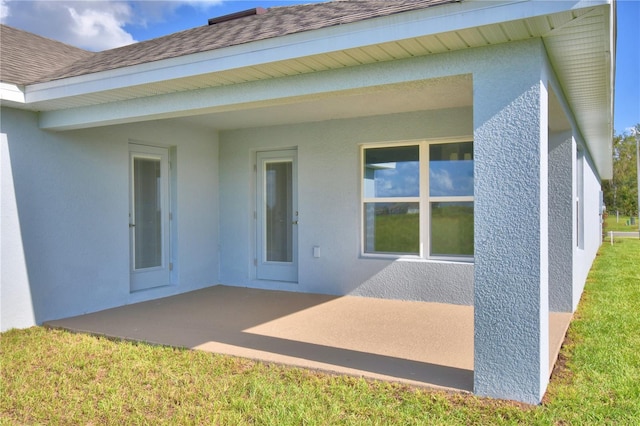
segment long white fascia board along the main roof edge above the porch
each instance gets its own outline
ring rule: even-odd
[[[465,1],[30,85],[26,102],[81,96],[490,25],[609,1]]]

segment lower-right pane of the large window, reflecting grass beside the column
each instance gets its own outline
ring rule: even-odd
[[[431,254],[473,256],[473,202],[431,203]]]

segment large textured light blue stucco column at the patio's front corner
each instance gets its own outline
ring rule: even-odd
[[[474,392],[530,404],[549,379],[544,61],[532,40],[474,73]]]

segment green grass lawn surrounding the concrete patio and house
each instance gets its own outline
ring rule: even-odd
[[[0,335],[0,424],[640,424],[640,241],[605,244],[543,403],[33,327]]]

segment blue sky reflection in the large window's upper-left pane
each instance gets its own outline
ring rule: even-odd
[[[420,196],[420,163],[403,161],[375,164],[374,197],[418,197]]]

